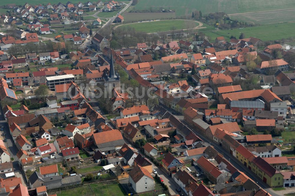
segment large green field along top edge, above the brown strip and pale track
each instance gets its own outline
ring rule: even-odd
[[[140,0],[135,5],[136,10],[172,9],[176,16],[188,15],[195,10],[203,13],[225,12],[227,14],[269,11],[294,8],[293,0]]]

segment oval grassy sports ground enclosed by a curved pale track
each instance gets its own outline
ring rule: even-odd
[[[136,31],[141,32],[162,32],[162,31],[170,31],[175,27],[176,30],[186,29],[187,25],[194,24],[195,26],[199,25],[194,21],[185,21],[185,20],[161,20],[155,22],[142,22],[142,23],[133,23],[123,25],[121,27],[132,27],[135,28]],[[120,28],[120,27],[118,27]]]

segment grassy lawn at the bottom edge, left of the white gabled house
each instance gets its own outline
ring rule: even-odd
[[[89,188],[90,186],[90,188]],[[120,184],[89,184],[84,185],[82,187],[77,187],[74,189],[67,189],[57,192],[58,196],[72,196],[72,195],[116,195],[116,196],[124,196],[125,192],[122,190]],[[50,193],[51,194],[51,193]]]

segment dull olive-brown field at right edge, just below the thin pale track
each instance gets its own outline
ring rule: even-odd
[[[230,14],[230,18],[238,21],[253,22],[254,24],[293,22],[295,21],[295,8],[267,12]]]

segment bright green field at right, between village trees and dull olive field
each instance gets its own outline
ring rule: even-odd
[[[203,25],[204,27],[205,25]],[[230,36],[239,37],[241,33],[244,33],[245,37],[257,37],[262,41],[268,40],[280,40],[282,38],[289,38],[294,36],[295,23],[278,23],[269,25],[260,25],[255,27],[246,27],[242,29],[231,30],[218,30],[213,27],[206,29],[199,29],[199,32],[203,32],[209,36],[209,41],[212,42],[216,37],[224,36],[226,40],[230,40]]]

